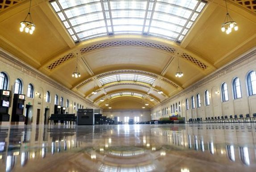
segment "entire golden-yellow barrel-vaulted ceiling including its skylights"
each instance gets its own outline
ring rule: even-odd
[[[239,26],[229,35],[224,0],[32,0],[29,35],[29,0],[5,0],[0,47],[101,108],[149,109],[256,46],[255,2],[227,5]]]

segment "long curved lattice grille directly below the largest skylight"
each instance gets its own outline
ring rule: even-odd
[[[106,47],[113,47],[113,46],[143,46],[143,47],[149,47],[154,49],[161,49],[169,53],[174,53],[176,51],[176,49],[173,49],[165,45],[160,45],[160,44],[145,42],[145,41],[112,41],[112,42],[103,42],[103,43],[85,47],[83,49],[80,49],[80,52],[88,53],[92,50],[102,49]]]

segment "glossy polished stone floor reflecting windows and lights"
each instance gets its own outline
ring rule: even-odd
[[[0,171],[255,172],[256,124],[0,126]]]

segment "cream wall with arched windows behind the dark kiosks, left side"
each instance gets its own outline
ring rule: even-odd
[[[58,82],[46,77],[46,75],[42,74],[38,70],[27,66],[25,63],[19,60],[19,63],[15,61],[16,58],[11,54],[8,54],[4,51],[0,51],[0,72],[4,72],[8,76],[8,90],[12,91],[11,94],[11,106],[9,107],[9,115],[12,115],[12,98],[13,98],[13,90],[14,83],[17,78],[20,78],[22,81],[23,89],[22,94],[27,94],[27,87],[31,83],[34,88],[33,98],[25,97],[25,105],[28,105],[29,102],[33,106],[33,120],[32,123],[36,123],[37,118],[37,109],[40,109],[40,123],[44,123],[44,115],[45,108],[50,109],[50,114],[54,113],[54,97],[55,94],[58,95],[59,105],[60,99],[63,97],[64,106],[66,106],[66,100],[69,100],[69,108],[66,108],[66,112],[75,113],[77,108],[74,110],[74,102],[77,104],[81,104],[84,108],[96,108],[99,107],[94,106],[92,103],[86,101],[82,97],[76,95],[73,91],[61,86]],[[47,81],[46,81],[47,79]],[[46,91],[50,92],[50,103],[45,102],[45,94]],[[39,94],[41,94],[41,98],[39,98]],[[25,107],[23,111],[23,115],[25,115]],[[46,116],[48,119],[48,116]],[[11,117],[10,117],[11,120]],[[29,123],[31,122],[31,118],[29,118]],[[47,121],[46,121],[47,123]]]

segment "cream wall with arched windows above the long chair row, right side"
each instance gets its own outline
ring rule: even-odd
[[[202,80],[196,82],[194,85],[183,90],[181,93],[169,98],[165,102],[151,109],[152,119],[159,119],[161,117],[167,117],[168,115],[160,114],[156,116],[156,111],[161,111],[162,108],[170,108],[173,103],[181,102],[181,112],[179,115],[186,117],[186,120],[190,118],[202,118],[215,117],[222,115],[239,115],[256,113],[256,95],[248,96],[246,78],[250,71],[256,71],[256,48],[244,53],[236,60],[231,61],[222,68],[216,70],[212,74],[206,76]],[[186,75],[186,74],[185,74]],[[242,98],[233,98],[232,82],[235,77],[240,80]],[[222,102],[221,85],[226,82],[228,87],[229,101]],[[210,94],[210,105],[205,106],[204,93],[205,90]],[[217,92],[217,94],[215,93]],[[218,93],[219,92],[219,93]],[[201,107],[196,108],[196,95],[200,94]],[[194,96],[195,108],[191,109],[191,97]],[[186,98],[189,100],[189,110],[186,110]],[[161,112],[160,112],[161,113]]]

